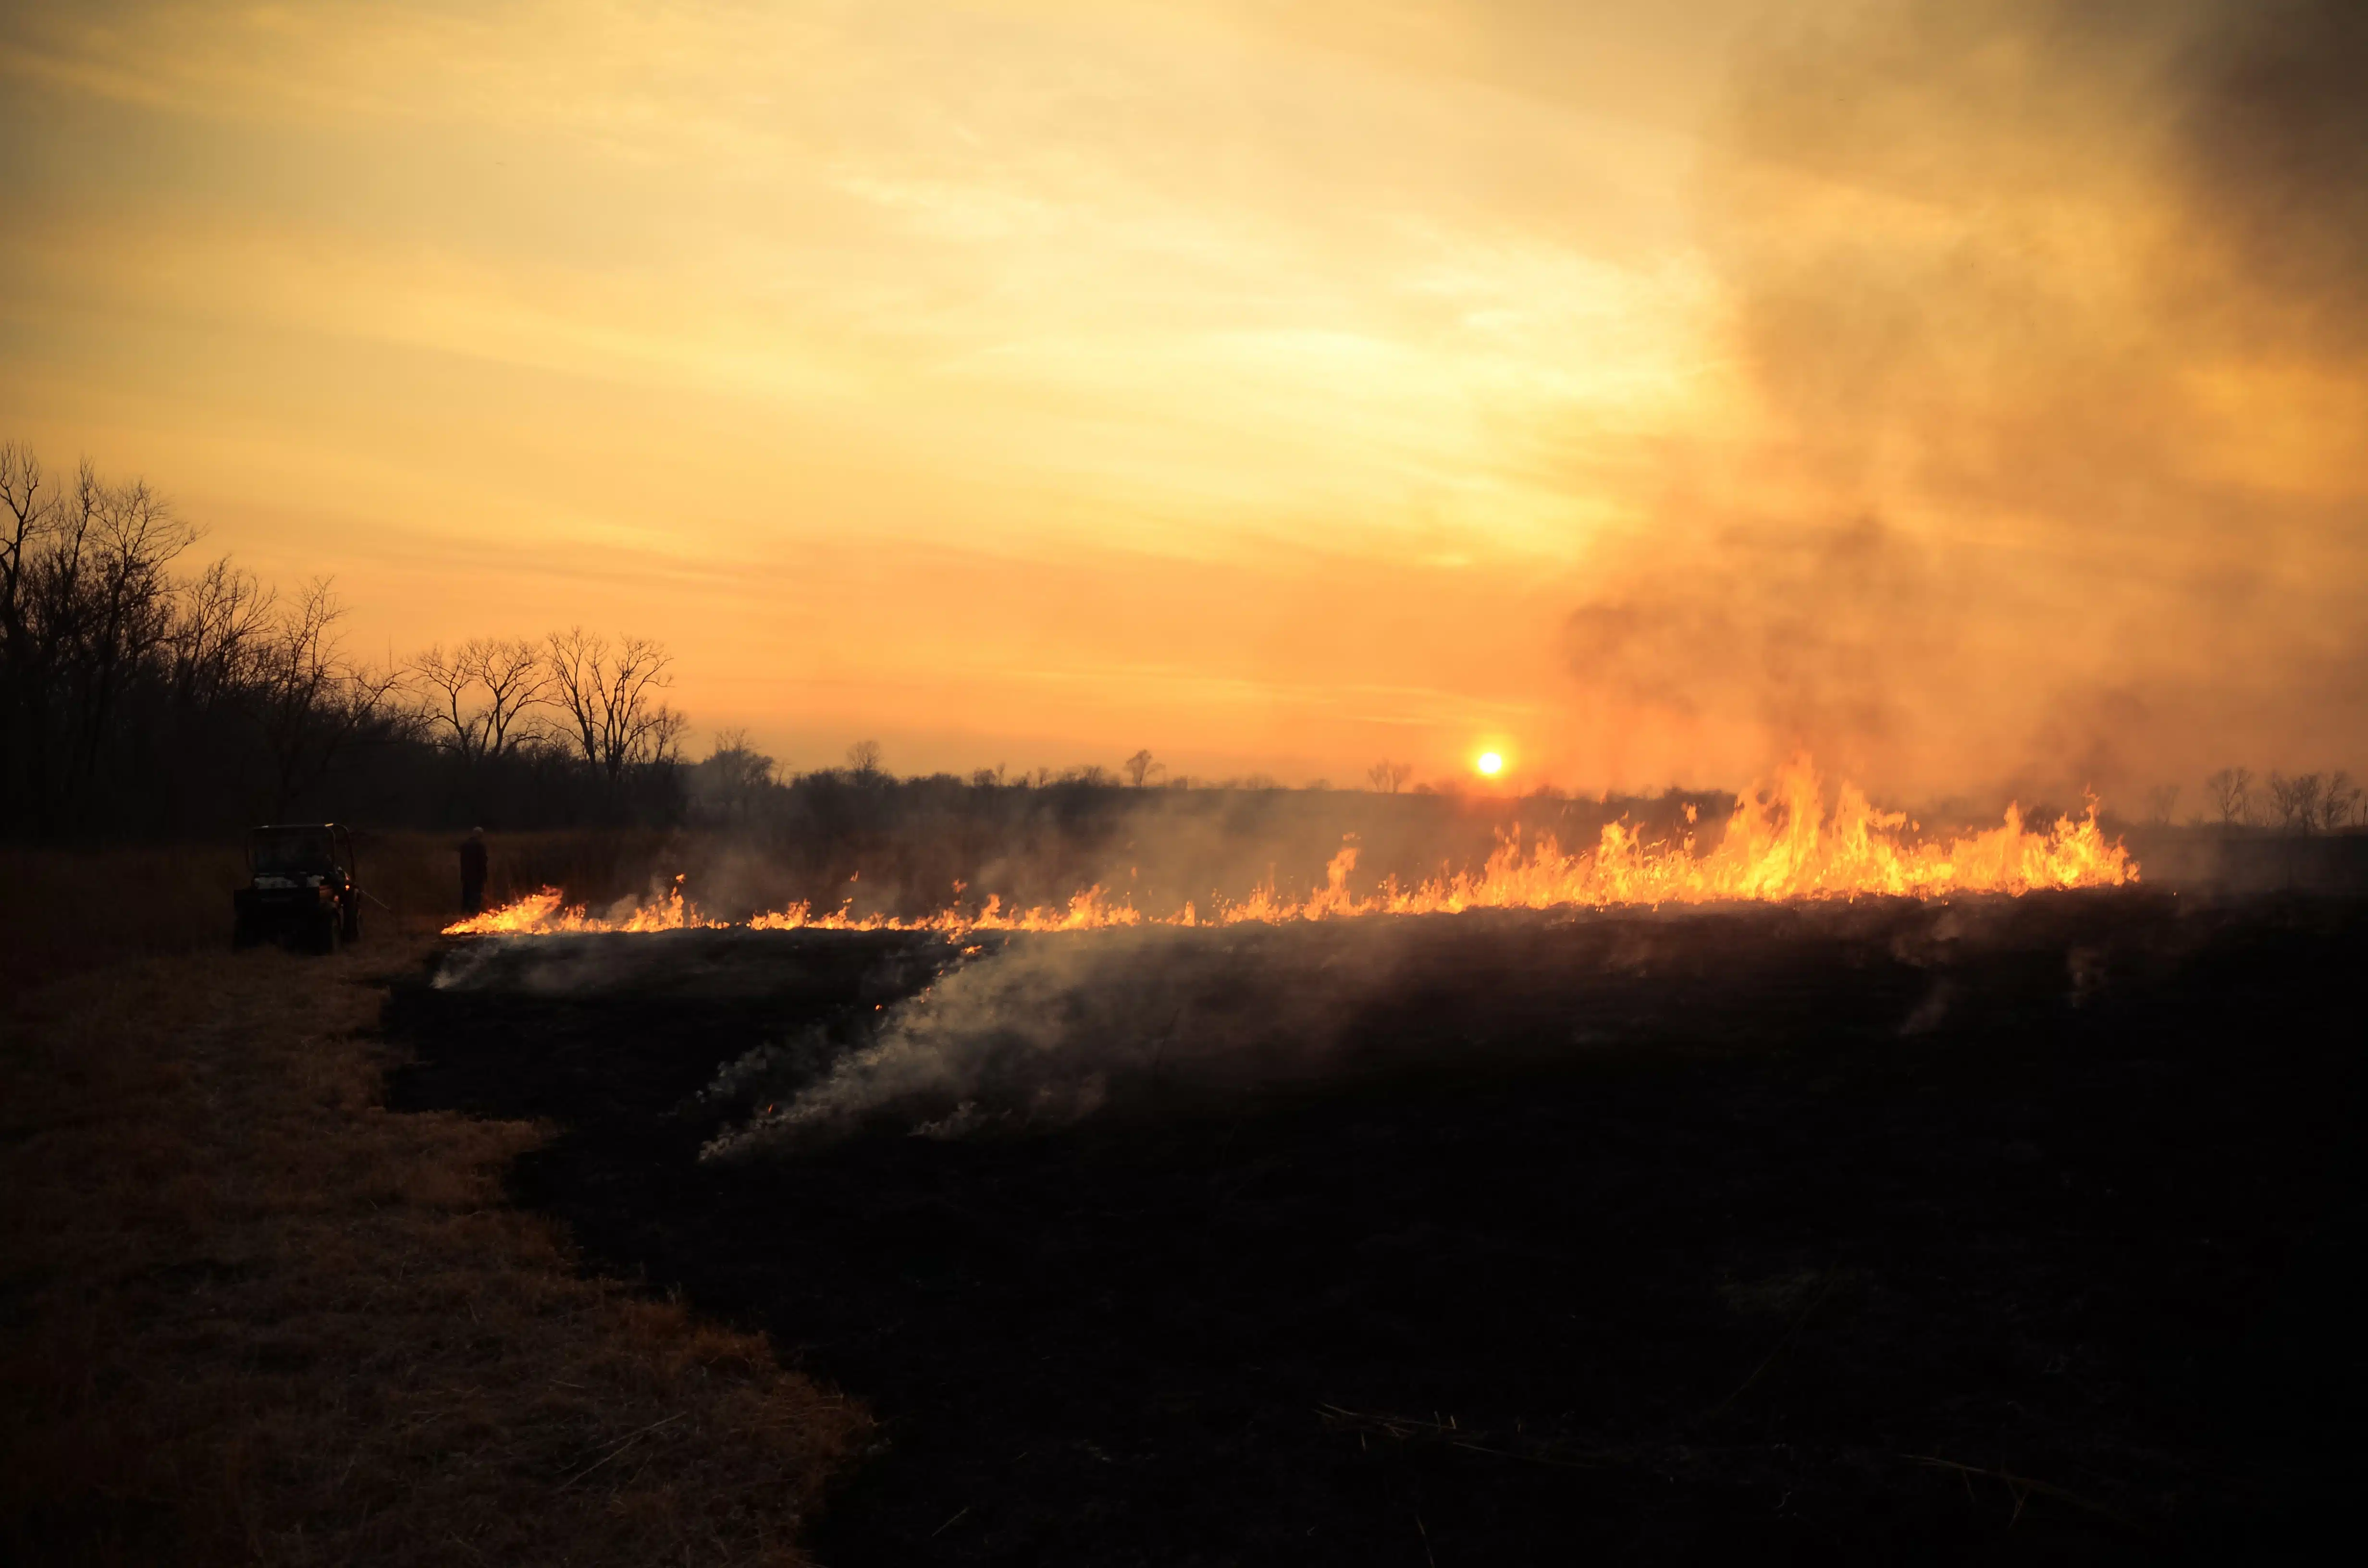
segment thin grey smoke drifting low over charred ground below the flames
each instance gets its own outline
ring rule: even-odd
[[[1238,1111],[1246,1099],[1338,1094],[1385,1075],[1497,1075],[1627,1047],[1684,1052],[1731,1030],[1928,1037],[2015,1009],[2089,1004],[2115,971],[2141,962],[2070,936],[2112,898],[2126,910],[2160,902],[2131,891],[1489,912],[879,947],[864,1000],[718,1073],[703,1099],[722,1130],[706,1156],[793,1153],[867,1132],[942,1139]],[[812,940],[803,936],[779,947],[762,940],[722,938],[715,952],[736,952],[741,966],[822,952],[798,947]],[[2001,950],[2022,955],[2018,981],[1973,995],[1961,969],[1996,962]],[[1812,995],[1812,973],[1840,990]]]

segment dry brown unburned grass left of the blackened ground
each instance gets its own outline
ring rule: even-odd
[[[215,898],[187,902],[206,931]],[[867,1419],[762,1338],[580,1277],[502,1206],[533,1127],[381,1106],[367,1030],[422,940],[7,1000],[0,1556],[798,1561]]]

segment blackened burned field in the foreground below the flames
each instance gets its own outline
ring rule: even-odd
[[[826,1563],[2157,1556],[2330,1518],[2361,902],[450,945],[407,1108],[864,1400]]]

